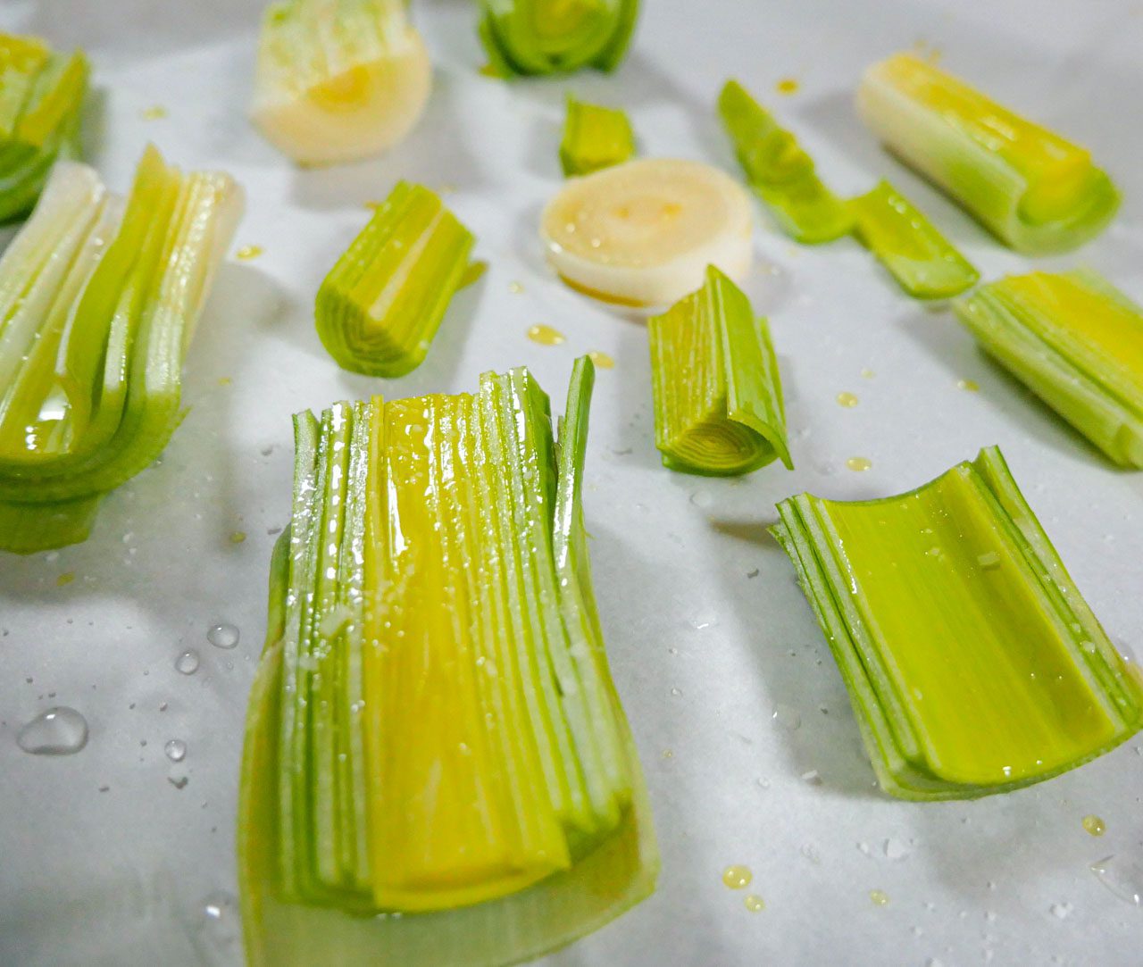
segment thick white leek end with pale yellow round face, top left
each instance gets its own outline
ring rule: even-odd
[[[421,118],[429,53],[405,0],[281,0],[262,21],[251,115],[301,165],[387,151]]]

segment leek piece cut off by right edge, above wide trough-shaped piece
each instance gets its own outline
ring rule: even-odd
[[[1097,272],[1032,272],[953,304],[980,344],[1111,459],[1143,467],[1143,309]]]

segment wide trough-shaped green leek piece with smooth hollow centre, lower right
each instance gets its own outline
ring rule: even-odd
[[[1072,583],[1000,451],[918,490],[802,494],[772,533],[849,689],[881,788],[969,799],[1050,778],[1143,726],[1143,678]]]

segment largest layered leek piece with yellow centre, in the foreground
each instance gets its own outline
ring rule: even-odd
[[[654,888],[586,556],[592,379],[558,439],[526,369],[295,417],[240,783],[250,964],[517,962]]]

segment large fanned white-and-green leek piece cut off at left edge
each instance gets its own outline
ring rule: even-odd
[[[181,369],[241,208],[153,147],[126,202],[61,162],[0,258],[0,549],[82,541],[182,419]]]

